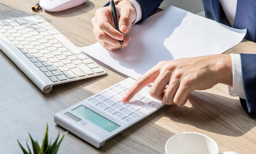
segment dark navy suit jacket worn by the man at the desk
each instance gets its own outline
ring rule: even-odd
[[[142,20],[153,13],[163,0],[137,0],[141,4]],[[219,0],[202,0],[205,17],[230,26]],[[240,98],[246,112],[256,112],[256,54],[240,54],[245,99]]]

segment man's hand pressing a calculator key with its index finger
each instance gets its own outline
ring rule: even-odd
[[[217,83],[232,86],[232,59],[221,54],[159,62],[135,81],[121,101],[130,101],[150,83],[152,97],[167,105],[185,105],[194,90],[206,90]]]

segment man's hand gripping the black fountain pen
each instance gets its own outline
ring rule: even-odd
[[[119,49],[119,40],[124,40],[124,46],[130,42],[130,37],[126,36],[132,28],[132,23],[136,19],[136,10],[128,0],[121,0],[116,5],[117,16],[119,17],[119,32],[115,29],[112,11],[110,6],[98,9],[92,19],[93,33],[99,43],[111,51]],[[123,35],[123,34],[124,35]]]

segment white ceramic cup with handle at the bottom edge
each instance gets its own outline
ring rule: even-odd
[[[165,154],[219,154],[217,143],[207,135],[185,132],[173,135],[166,142]],[[223,152],[221,154],[238,154]]]

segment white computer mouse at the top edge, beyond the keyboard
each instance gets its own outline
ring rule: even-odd
[[[43,10],[58,12],[78,6],[86,0],[40,0],[39,5]]]

